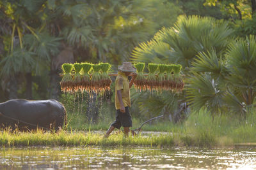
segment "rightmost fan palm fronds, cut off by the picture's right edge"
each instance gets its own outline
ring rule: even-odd
[[[251,106],[256,96],[256,41],[255,36],[238,39],[226,54],[230,89],[241,97],[241,103]]]

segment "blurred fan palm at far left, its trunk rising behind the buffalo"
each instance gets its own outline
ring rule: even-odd
[[[60,46],[60,38],[50,36],[44,30],[44,25],[38,22],[40,12],[38,14],[36,11],[42,10],[42,4],[42,1],[33,3],[3,1],[1,4],[6,17],[3,22],[12,29],[4,34],[11,40],[10,44],[6,43],[9,50],[1,61],[4,66],[1,76],[23,74],[26,77],[26,98],[28,99],[32,98],[32,74],[40,75],[42,69],[47,69],[51,56],[58,53]]]

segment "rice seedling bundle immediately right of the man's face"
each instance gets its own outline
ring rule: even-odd
[[[140,91],[146,90],[147,79],[143,74],[145,63],[138,62],[138,63],[134,64],[134,67],[136,67],[137,72],[138,72],[137,77],[134,80],[135,89],[140,90]]]

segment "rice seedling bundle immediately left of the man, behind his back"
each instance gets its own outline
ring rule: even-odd
[[[103,90],[110,90],[110,85],[112,83],[111,78],[108,75],[108,71],[111,69],[111,64],[108,62],[106,63],[100,63],[100,68],[102,71],[101,74],[101,87]]]

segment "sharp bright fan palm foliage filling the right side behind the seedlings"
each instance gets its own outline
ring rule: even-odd
[[[192,16],[180,17],[174,27],[134,48],[132,59],[186,67],[188,85],[180,97],[194,110],[205,107],[212,115],[229,111],[245,115],[256,95],[255,50],[255,36],[236,38],[227,22]]]

